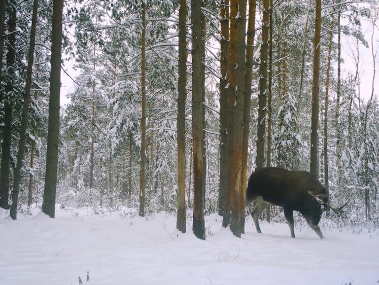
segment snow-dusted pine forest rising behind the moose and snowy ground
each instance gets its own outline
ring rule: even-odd
[[[267,165],[311,169],[332,204],[351,201],[346,214],[328,216],[338,225],[377,225],[377,2],[324,1],[318,17],[319,0],[65,1],[62,20],[53,17],[59,4],[0,3],[0,206],[13,206],[14,219],[48,200],[100,211],[126,205],[141,216],[178,211],[178,228],[194,219],[205,238],[204,214],[241,224],[246,175]],[[66,55],[55,65],[53,19]],[[49,102],[59,98],[53,70],[73,60],[75,88],[55,128],[56,192],[49,196]],[[239,181],[230,170],[240,171]],[[54,216],[51,207],[45,212]],[[266,218],[283,220],[278,208]]]

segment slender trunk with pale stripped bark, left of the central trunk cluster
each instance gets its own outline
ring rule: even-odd
[[[187,82],[187,1],[180,1],[179,8],[179,80],[178,80],[178,212],[177,229],[186,232],[186,82]]]

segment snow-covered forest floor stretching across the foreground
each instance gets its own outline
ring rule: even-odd
[[[57,208],[17,221],[0,209],[0,284],[377,284],[379,231],[261,222],[234,237],[218,215],[206,217],[206,240],[176,230],[173,216]],[[123,217],[121,217],[123,216]]]

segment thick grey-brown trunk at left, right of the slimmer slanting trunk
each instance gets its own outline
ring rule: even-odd
[[[62,50],[63,0],[53,0],[53,25],[50,71],[49,125],[47,134],[46,174],[42,211],[55,217],[58,170],[60,61]]]

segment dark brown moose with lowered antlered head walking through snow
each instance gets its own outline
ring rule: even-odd
[[[282,206],[284,216],[295,237],[293,211],[299,211],[308,225],[323,239],[319,222],[323,209],[330,207],[325,187],[307,171],[292,171],[283,168],[266,167],[254,171],[246,189],[246,206],[256,201],[251,213],[257,232],[260,233],[259,217],[267,204]]]

